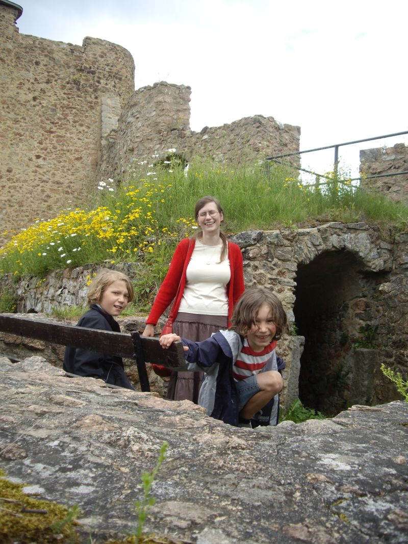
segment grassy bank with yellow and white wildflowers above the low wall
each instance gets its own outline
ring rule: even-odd
[[[0,248],[0,274],[44,277],[49,270],[85,263],[137,261],[145,270],[135,285],[143,299],[162,282],[178,240],[194,232],[194,205],[205,195],[220,200],[227,233],[316,221],[407,228],[408,206],[353,186],[347,172],[331,173],[316,188],[303,186],[295,169],[281,165],[267,172],[264,165],[234,168],[195,160],[186,171],[171,153],[178,157],[171,150],[170,160],[135,164],[126,183],[99,182],[86,207],[4,233],[9,242]]]

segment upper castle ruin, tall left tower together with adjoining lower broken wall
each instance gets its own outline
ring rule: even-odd
[[[244,161],[299,150],[300,128],[258,115],[190,131],[190,91],[165,82],[134,92],[131,54],[20,34],[0,3],[0,239],[64,208],[84,206],[97,182],[170,148],[190,160]]]

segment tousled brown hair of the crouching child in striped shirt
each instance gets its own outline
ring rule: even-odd
[[[282,334],[289,329],[288,317],[279,298],[264,287],[251,287],[244,291],[234,308],[230,329],[245,336],[251,326],[255,325],[259,308],[264,304],[269,306],[272,320],[276,326],[274,340],[279,340]]]

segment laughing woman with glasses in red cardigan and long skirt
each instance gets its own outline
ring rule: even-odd
[[[154,325],[175,300],[173,332],[193,342],[227,329],[233,307],[244,292],[242,253],[221,232],[224,212],[213,196],[204,196],[194,209],[199,226],[192,238],[183,239],[146,319],[143,336],[154,335]],[[180,289],[179,289],[180,286]],[[172,372],[166,398],[197,404],[201,372]]]

